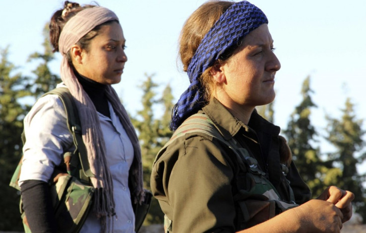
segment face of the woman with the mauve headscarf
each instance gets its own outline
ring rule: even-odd
[[[88,51],[82,50],[77,71],[96,82],[114,84],[121,80],[124,64],[125,38],[117,22],[103,25],[99,34],[91,39]]]

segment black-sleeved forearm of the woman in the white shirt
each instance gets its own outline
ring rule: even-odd
[[[25,180],[21,188],[23,209],[32,232],[54,233],[56,223],[48,183]]]

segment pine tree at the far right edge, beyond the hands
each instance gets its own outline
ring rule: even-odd
[[[366,220],[366,193],[362,185],[365,174],[359,174],[356,167],[366,158],[366,153],[363,152],[366,143],[362,139],[366,132],[362,130],[363,120],[356,119],[354,105],[349,98],[342,112],[340,120],[327,116],[329,135],[326,140],[336,148],[335,152],[328,154],[328,159],[340,170],[337,173],[327,174],[327,185],[337,185],[353,192],[356,211]]]

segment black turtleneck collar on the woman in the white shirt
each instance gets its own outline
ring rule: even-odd
[[[87,92],[87,94],[91,98],[91,101],[93,102],[96,111],[110,118],[108,99],[105,95],[107,85],[84,77],[77,72],[75,73],[85,92]]]

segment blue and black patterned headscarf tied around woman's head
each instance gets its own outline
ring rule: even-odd
[[[266,15],[248,1],[234,3],[220,16],[203,37],[189,63],[190,85],[173,108],[171,130],[176,130],[187,117],[206,104],[199,81],[202,73],[213,66],[225,51],[238,46],[243,37],[264,23],[268,23]]]

